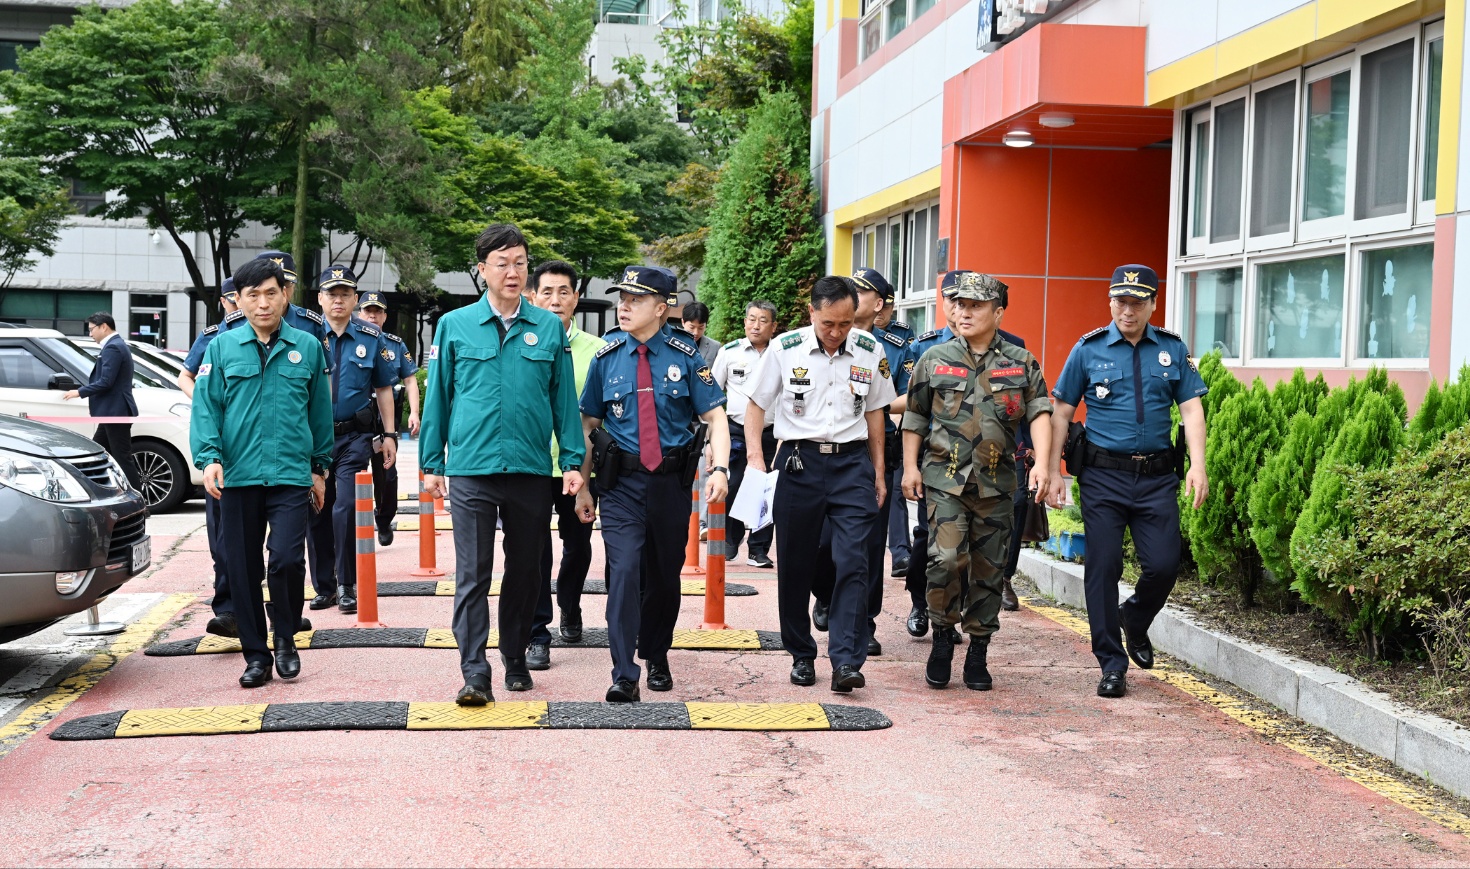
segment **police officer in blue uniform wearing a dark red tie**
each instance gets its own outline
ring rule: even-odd
[[[714,384],[694,341],[663,318],[678,298],[673,272],[629,266],[613,284],[620,293],[617,325],[597,351],[582,390],[582,422],[592,440],[607,551],[607,641],[613,656],[609,703],[639,700],[638,656],[648,663],[648,690],[669,691],[669,647],[679,618],[679,569],[688,543],[694,469],[703,450],[695,421],[709,425],[714,468],[704,498],[725,497],[729,478],[729,425],[725,393]],[[598,431],[601,426],[601,431]],[[591,496],[579,513],[591,522]],[[639,600],[641,591],[641,600]]]

